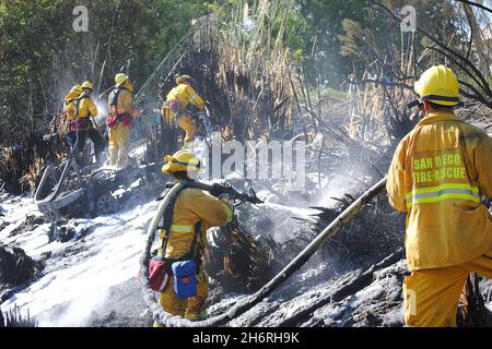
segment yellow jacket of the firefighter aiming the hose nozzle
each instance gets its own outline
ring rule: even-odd
[[[202,251],[207,243],[207,230],[224,226],[232,218],[232,207],[226,201],[196,188],[183,190],[174,206],[165,257],[178,258],[189,252],[195,237],[195,225],[198,221],[201,221],[201,233],[197,238],[197,243]],[[162,229],[160,236],[161,239],[164,237]]]

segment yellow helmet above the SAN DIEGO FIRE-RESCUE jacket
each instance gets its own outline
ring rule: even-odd
[[[459,83],[455,73],[444,65],[434,65],[427,69],[419,81],[415,81],[415,92],[419,99],[413,100],[413,107],[425,100],[441,106],[456,106],[459,101]]]

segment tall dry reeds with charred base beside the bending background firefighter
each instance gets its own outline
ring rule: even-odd
[[[174,86],[175,73],[190,74],[197,92],[208,100],[212,123],[225,140],[283,139],[292,125],[293,65],[283,48],[285,1],[239,1],[220,20],[199,19],[186,39],[166,57],[140,95],[152,105]],[[255,19],[251,27],[245,19]]]

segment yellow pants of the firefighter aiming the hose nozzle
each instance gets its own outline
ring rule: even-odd
[[[209,296],[209,277],[200,267],[197,275],[197,296],[190,298],[178,298],[173,291],[173,277],[169,277],[166,287],[161,292],[159,304],[173,315],[179,315],[191,321],[199,321],[206,311],[206,300]],[[154,327],[163,327],[162,324],[154,323]]]

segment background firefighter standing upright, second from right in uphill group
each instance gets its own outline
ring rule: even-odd
[[[108,97],[109,118],[106,124],[109,129],[109,159],[108,165],[124,167],[128,161],[128,146],[130,143],[133,117],[140,112],[133,109],[131,93],[133,86],[130,77],[124,73],[116,74],[116,87]]]

